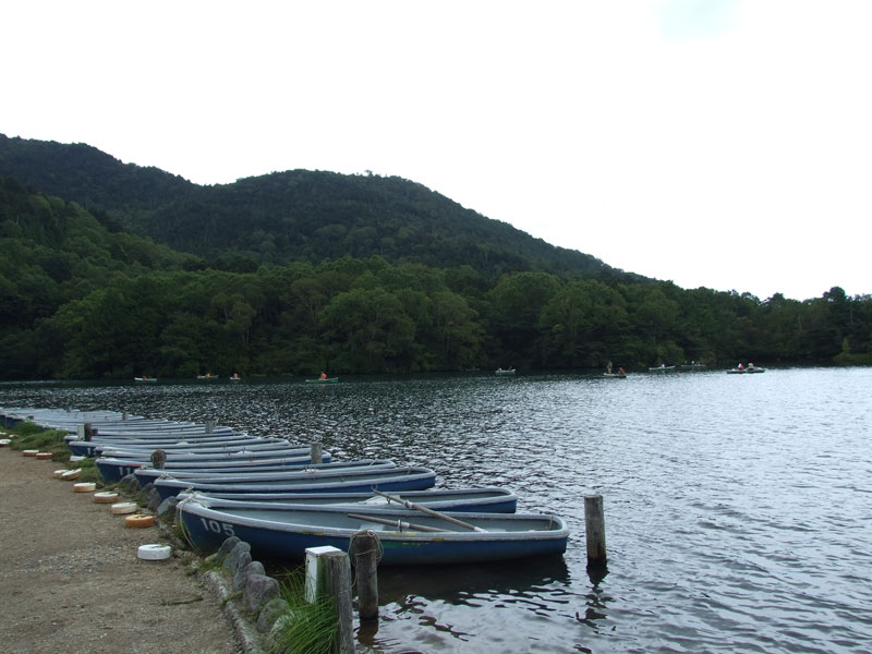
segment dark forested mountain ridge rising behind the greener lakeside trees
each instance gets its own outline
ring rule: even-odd
[[[237,271],[376,254],[391,263],[470,265],[492,279],[521,270],[643,279],[396,177],[293,170],[201,186],[86,145],[2,135],[0,177]]]

